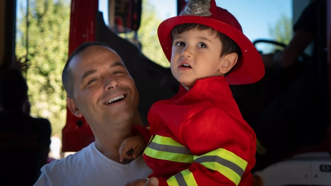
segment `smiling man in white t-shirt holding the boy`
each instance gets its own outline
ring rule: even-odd
[[[132,125],[142,125],[138,91],[120,56],[105,44],[84,43],[69,57],[62,82],[68,108],[84,116],[95,142],[42,167],[35,185],[125,185],[146,178],[151,169],[142,156],[120,162],[121,143],[131,136]]]

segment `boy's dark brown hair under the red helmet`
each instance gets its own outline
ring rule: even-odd
[[[211,27],[208,27],[205,25],[200,25],[200,24],[195,24],[195,23],[185,23],[185,24],[180,24],[180,25],[175,26],[171,33],[172,42],[173,42],[174,36],[176,36],[177,34],[181,34],[185,31],[189,31],[192,29],[196,29],[198,31],[208,30],[208,31],[210,31],[211,34],[214,34],[215,32],[217,32],[217,38],[222,43],[222,51],[220,51],[220,57],[231,54],[231,53],[236,53],[238,55],[238,59],[239,59],[243,55],[238,44],[235,41],[233,41],[231,38],[229,38],[227,35],[220,33]],[[234,69],[234,67],[232,69]],[[227,76],[232,71],[232,69],[225,76]]]

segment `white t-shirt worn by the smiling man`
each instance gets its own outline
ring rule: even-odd
[[[142,155],[129,164],[120,164],[104,156],[93,142],[66,158],[46,164],[41,172],[35,185],[123,186],[135,179],[146,179],[152,170]]]

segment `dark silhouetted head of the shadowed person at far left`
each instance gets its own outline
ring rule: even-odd
[[[15,69],[5,71],[0,77],[0,101],[4,110],[22,111],[28,99],[28,85],[21,72]]]

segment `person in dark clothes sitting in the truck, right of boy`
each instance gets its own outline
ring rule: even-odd
[[[294,24],[289,45],[273,60],[269,58],[274,68],[270,70],[277,73],[266,73],[268,104],[251,122],[257,138],[268,149],[262,156],[257,154],[256,169],[325,139],[329,126],[325,7],[325,0],[311,1]],[[299,56],[311,42],[311,60],[299,63]]]

